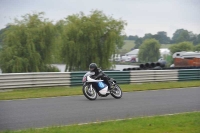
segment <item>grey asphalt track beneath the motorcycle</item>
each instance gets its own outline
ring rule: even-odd
[[[200,88],[123,93],[89,101],[84,96],[0,101],[0,131],[200,111]]]

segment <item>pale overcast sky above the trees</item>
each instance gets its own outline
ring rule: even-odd
[[[56,22],[92,9],[125,20],[127,35],[166,31],[172,37],[180,28],[200,33],[200,0],[0,0],[0,29],[26,13],[43,11]]]

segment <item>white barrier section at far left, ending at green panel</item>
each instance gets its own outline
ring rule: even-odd
[[[0,74],[0,89],[28,88],[43,86],[69,86],[70,73],[9,73]]]

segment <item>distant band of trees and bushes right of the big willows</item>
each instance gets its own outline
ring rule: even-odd
[[[134,49],[140,49],[138,58],[140,62],[156,62],[160,56],[159,49],[161,44],[172,44],[169,49],[171,55],[167,58],[168,65],[173,64],[172,55],[181,51],[200,51],[200,34],[193,34],[184,29],[178,29],[173,34],[172,39],[167,36],[164,31],[158,32],[156,35],[145,34],[144,37],[124,36],[125,40],[135,40]],[[170,57],[170,58],[169,58]]]

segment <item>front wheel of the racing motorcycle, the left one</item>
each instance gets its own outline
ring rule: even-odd
[[[89,85],[83,86],[83,94],[89,100],[95,100],[97,98],[97,92],[93,87],[90,88]]]

